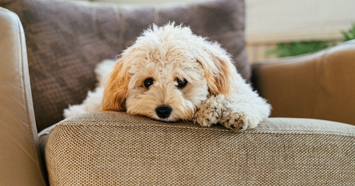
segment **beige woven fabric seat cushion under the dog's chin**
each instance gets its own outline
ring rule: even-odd
[[[57,124],[45,156],[50,185],[351,185],[355,126],[269,118],[233,133],[97,112]]]

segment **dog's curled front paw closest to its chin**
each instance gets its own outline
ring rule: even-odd
[[[193,121],[207,127],[217,124],[223,116],[224,102],[224,95],[211,96],[202,102]]]

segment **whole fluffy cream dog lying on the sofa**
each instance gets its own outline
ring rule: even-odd
[[[226,50],[174,23],[148,28],[117,62],[104,61],[95,73],[98,87],[81,105],[65,109],[65,118],[126,111],[164,122],[219,123],[244,131],[271,112],[271,105],[237,73]]]

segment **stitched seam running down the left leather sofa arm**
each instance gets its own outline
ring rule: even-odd
[[[27,115],[27,123],[28,123],[28,129],[29,129],[29,134],[31,135],[31,141],[33,145],[33,150],[34,150],[34,155],[36,157],[36,163],[37,163],[37,169],[39,171],[39,175],[41,176],[43,185],[45,186],[46,184],[44,183],[43,180],[43,175],[42,171],[39,168],[39,162],[38,162],[38,157],[37,157],[37,151],[34,145],[34,139],[33,139],[33,131],[31,130],[32,128],[32,123],[31,119],[29,118],[29,108],[28,108],[28,99],[27,99],[27,94],[26,94],[26,83],[25,83],[25,78],[24,78],[24,67],[23,67],[23,50],[22,50],[22,34],[21,34],[21,22],[20,18],[17,17],[17,24],[18,24],[18,34],[20,35],[20,50],[21,50],[21,67],[22,67],[22,82],[23,82],[23,96],[25,100],[25,105],[26,105],[26,115]]]

